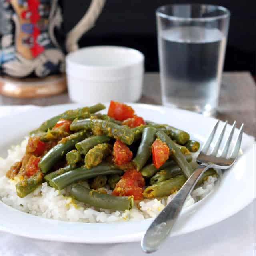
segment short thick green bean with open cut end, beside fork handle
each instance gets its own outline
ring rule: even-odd
[[[185,182],[186,178],[183,175],[178,175],[174,178],[170,178],[169,180],[164,180],[152,186],[148,186],[144,190],[143,195],[146,198],[169,196],[179,190]]]

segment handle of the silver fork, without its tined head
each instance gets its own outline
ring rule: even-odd
[[[211,166],[199,166],[180,188],[172,201],[160,212],[151,223],[141,240],[141,248],[144,252],[154,252],[170,234],[176,219],[178,218],[186,198],[206,170]]]

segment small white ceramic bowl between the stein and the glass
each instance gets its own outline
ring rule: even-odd
[[[68,54],[66,74],[74,102],[135,102],[142,93],[144,55],[120,46],[85,47]]]

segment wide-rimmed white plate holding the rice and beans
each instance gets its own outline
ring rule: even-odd
[[[130,105],[146,120],[184,129],[200,142],[206,140],[216,122],[214,118],[184,110],[144,104]],[[21,107],[12,110],[8,116],[0,113],[0,156],[6,156],[6,149],[12,144],[18,144],[42,120],[78,106],[81,105]],[[228,131],[230,127],[227,127]],[[238,130],[235,131],[237,133]],[[234,167],[223,175],[220,186],[207,198],[182,210],[172,236],[220,222],[242,210],[255,198],[255,142],[252,137],[243,135],[240,152]],[[65,222],[26,214],[0,201],[0,230],[44,240],[77,243],[134,242],[140,240],[151,222],[152,219],[114,223]]]

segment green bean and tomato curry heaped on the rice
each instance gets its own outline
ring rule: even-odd
[[[6,176],[18,181],[21,198],[42,182],[88,205],[113,210],[134,201],[169,196],[192,174],[192,153],[200,144],[187,132],[145,121],[131,106],[110,102],[68,110],[30,132],[26,152]],[[216,175],[208,170],[199,181]],[[86,180],[90,184],[84,186]],[[112,194],[100,188],[107,187]]]

